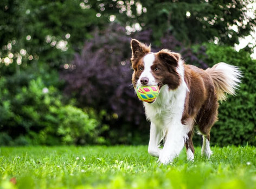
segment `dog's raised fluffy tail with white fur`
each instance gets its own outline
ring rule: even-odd
[[[235,89],[241,83],[241,71],[238,67],[226,63],[218,63],[206,72],[212,77],[218,100],[226,100],[227,94],[235,95]]]

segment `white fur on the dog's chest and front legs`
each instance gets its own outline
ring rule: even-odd
[[[184,69],[180,75],[184,76]],[[181,123],[186,93],[187,85],[182,79],[176,90],[169,90],[168,85],[164,85],[155,102],[144,102],[146,117],[151,121],[149,152],[152,156],[159,156],[158,161],[163,164],[170,163],[180,154],[187,139],[189,130]],[[161,150],[158,145],[162,139],[164,146]]]

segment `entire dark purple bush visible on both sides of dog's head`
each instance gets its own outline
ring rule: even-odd
[[[146,30],[132,38],[149,45],[151,36],[152,31]],[[93,107],[98,112],[106,110],[103,122],[118,132],[135,128],[144,130],[148,125],[142,103],[131,84],[130,40],[131,36],[126,35],[125,28],[118,24],[110,24],[104,31],[97,30],[93,38],[85,42],[82,52],[75,54],[69,68],[61,73],[67,83],[66,92],[74,95],[79,106]],[[162,48],[178,50],[188,63],[207,67],[191,49],[184,48],[173,36],[165,35],[161,43],[161,48],[152,45],[152,51]],[[199,53],[204,53],[203,49]],[[118,118],[113,115],[118,115]]]

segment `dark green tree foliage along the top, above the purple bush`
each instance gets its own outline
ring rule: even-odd
[[[256,18],[247,14],[253,11],[248,7],[252,2],[2,0],[0,57],[12,54],[7,65],[18,62],[23,68],[40,59],[57,69],[74,51],[80,51],[97,26],[102,28],[115,19],[126,26],[127,33],[151,29],[151,41],[158,46],[166,32],[183,44],[218,40],[234,45],[239,37],[254,31]]]

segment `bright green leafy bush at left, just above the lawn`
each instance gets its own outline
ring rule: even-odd
[[[59,91],[46,87],[41,78],[16,90],[8,85],[5,78],[0,79],[1,145],[103,142],[98,138],[97,119],[63,104]]]

